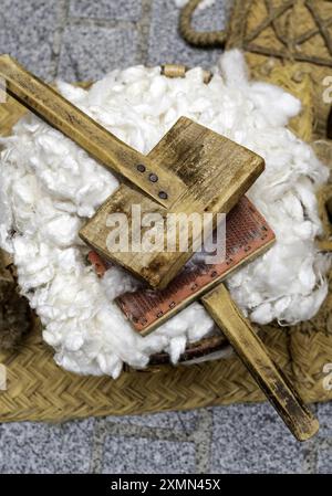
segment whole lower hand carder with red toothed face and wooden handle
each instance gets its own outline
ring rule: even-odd
[[[166,288],[154,292],[141,288],[121,295],[116,302],[133,328],[146,336],[194,300],[200,300],[290,431],[298,440],[305,441],[317,433],[317,419],[220,283],[241,265],[262,255],[274,242],[274,234],[246,197],[228,213],[226,234],[224,261],[214,265],[191,263]]]

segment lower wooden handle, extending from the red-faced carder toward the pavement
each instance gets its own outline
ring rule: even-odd
[[[299,441],[313,436],[319,430],[318,420],[272,361],[224,284],[206,294],[201,302],[293,435]]]

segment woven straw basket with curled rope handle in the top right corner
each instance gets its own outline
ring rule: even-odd
[[[180,13],[179,29],[185,40],[201,48],[221,45],[243,50],[253,76],[276,66],[287,70],[289,63],[297,62],[297,77],[307,74],[313,83],[313,133],[325,137],[331,103],[324,103],[323,92],[331,85],[326,77],[332,75],[332,2],[234,0],[225,30],[196,32],[191,18],[201,1],[189,0]]]

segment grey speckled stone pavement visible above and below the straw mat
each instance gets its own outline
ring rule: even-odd
[[[196,14],[221,28],[227,0]],[[211,66],[220,50],[188,46],[173,0],[1,0],[0,53],[49,81],[94,80],[115,67]],[[300,444],[268,404],[63,424],[0,424],[0,473],[332,473],[332,404]]]

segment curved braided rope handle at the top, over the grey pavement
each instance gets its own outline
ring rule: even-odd
[[[193,28],[193,15],[200,2],[201,0],[189,0],[180,11],[179,31],[181,36],[194,46],[224,46],[227,40],[226,30],[199,32]]]

